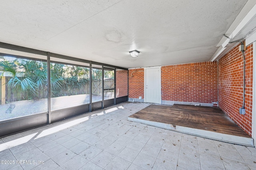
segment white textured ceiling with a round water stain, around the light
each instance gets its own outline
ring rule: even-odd
[[[125,68],[209,61],[246,2],[5,0],[0,42]]]

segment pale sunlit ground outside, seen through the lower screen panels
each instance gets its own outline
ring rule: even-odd
[[[106,99],[106,97],[105,97]],[[101,96],[92,96],[92,102],[101,101]],[[58,110],[90,103],[90,95],[72,95],[51,99],[51,109]],[[37,100],[14,101],[0,105],[0,121],[47,112],[47,98]]]

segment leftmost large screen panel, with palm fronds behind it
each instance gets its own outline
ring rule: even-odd
[[[0,57],[0,121],[47,112],[47,63]]]

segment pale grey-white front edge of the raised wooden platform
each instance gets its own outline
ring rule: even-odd
[[[222,133],[211,132],[211,131],[201,130],[201,129],[196,129],[196,128],[188,128],[188,127],[182,127],[182,126],[171,125],[171,124],[166,124],[166,123],[146,121],[146,120],[136,119],[136,118],[131,118],[131,117],[128,117],[128,121],[143,123],[143,124],[151,125],[154,127],[165,128],[168,130],[174,130],[176,132],[192,134],[192,135],[200,136],[203,138],[220,140],[222,142],[228,142],[228,143],[232,143],[232,144],[240,144],[240,145],[244,145],[244,146],[254,146],[253,138],[245,138],[245,137],[241,137],[241,136],[222,134]]]

